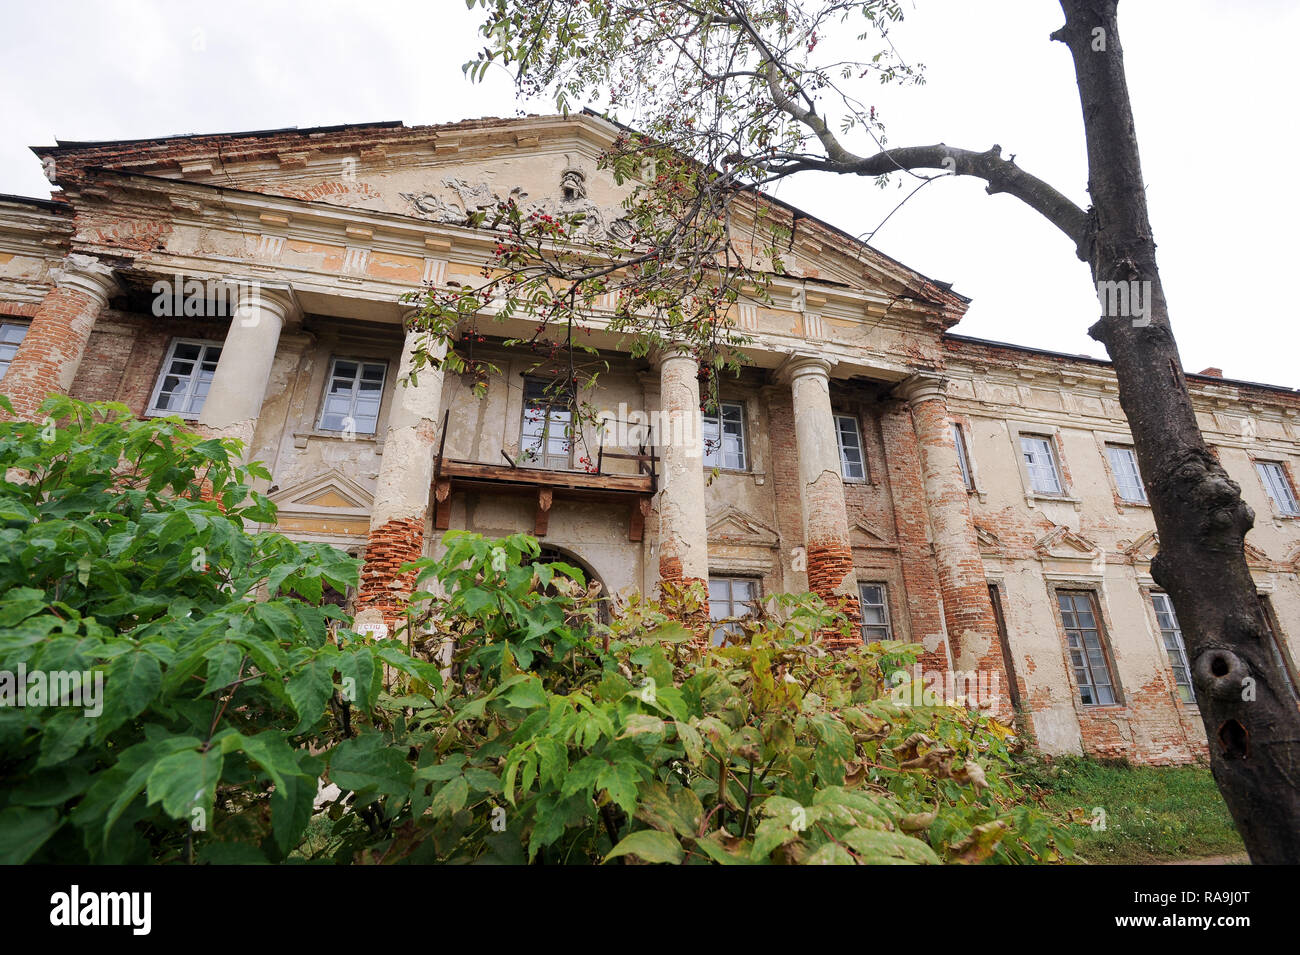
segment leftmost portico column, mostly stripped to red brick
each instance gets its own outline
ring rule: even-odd
[[[36,420],[51,394],[66,395],[86,355],[95,320],[117,290],[113,270],[94,256],[70,255],[55,273],[55,287],[32,316],[27,337],[0,381],[14,414]]]

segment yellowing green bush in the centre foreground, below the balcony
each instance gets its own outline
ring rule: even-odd
[[[580,570],[530,563],[536,541],[445,542],[417,567],[446,599],[413,622],[433,644],[454,641],[446,680],[348,743],[377,754],[400,741],[419,756],[363,790],[384,799],[386,838],[335,813],[333,852],[723,864],[1072,852],[1006,778],[1005,726],[885,691],[916,646],[828,655],[818,634],[844,620],[803,595],[774,598],[775,612],[715,648],[677,622],[703,594],[671,586],[663,605],[634,599],[606,630]]]

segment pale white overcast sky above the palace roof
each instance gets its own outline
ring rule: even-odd
[[[867,90],[890,143],[1000,143],[1080,204],[1087,170],[1070,56],[1050,0],[914,0],[894,42],[926,86]],[[508,77],[471,86],[464,0],[9,0],[0,31],[0,192],[47,196],[30,146],[520,109]],[[1128,84],[1174,330],[1191,372],[1295,387],[1300,110],[1295,0],[1126,0]],[[867,51],[868,53],[871,51]],[[872,99],[875,97],[875,99]],[[538,110],[541,104],[533,104]],[[781,199],[854,234],[898,201],[868,181],[803,178]],[[1070,243],[975,181],[936,182],[872,244],[974,299],[957,331],[1104,357]],[[1274,285],[1279,291],[1269,292]]]

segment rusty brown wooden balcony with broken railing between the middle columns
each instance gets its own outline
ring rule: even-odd
[[[629,508],[628,539],[640,541],[645,534],[650,502],[659,490],[659,456],[653,447],[642,446],[634,453],[627,453],[602,444],[595,470],[558,470],[517,465],[504,452],[502,457],[507,464],[448,460],[442,453],[446,435],[447,417],[443,417],[442,442],[433,468],[433,526],[438,530],[451,526],[451,495],[476,491],[534,499],[533,534],[537,537],[546,537],[551,505],[556,500],[624,503]],[[611,473],[606,470],[607,460],[636,461],[637,473]]]

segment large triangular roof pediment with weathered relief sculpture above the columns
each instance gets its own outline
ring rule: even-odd
[[[256,249],[252,257],[273,264],[281,256],[307,262],[325,256],[364,273],[373,270],[365,253],[374,251],[376,234],[386,225],[372,213],[455,229],[474,212],[515,199],[525,213],[581,212],[584,221],[575,238],[625,242],[634,230],[625,220],[623,200],[634,179],[618,183],[601,168],[604,151],[620,135],[623,130],[603,117],[571,113],[439,126],[372,122],[131,142],[60,142],[35,152],[73,179],[95,178],[99,186],[114,190],[127,188],[129,179],[130,190],[162,194],[182,218],[228,212],[229,194],[240,194],[242,231]],[[220,190],[220,195],[205,190]],[[257,208],[243,199],[256,194],[277,201]],[[296,209],[283,200],[307,203],[308,208]],[[844,314],[842,303],[828,305],[836,290],[845,287],[888,294],[904,304],[902,311],[915,307],[926,313],[926,321],[950,324],[965,311],[965,299],[946,285],[784,203],[762,201],[770,203],[764,218],[790,229],[783,255],[785,275],[805,283],[797,290],[798,301],[786,301],[788,292],[783,292],[772,308],[802,313],[794,325],[805,338],[858,334],[855,318]],[[335,220],[316,212],[322,207],[355,212],[342,251],[335,248]],[[733,210],[737,249],[746,246],[746,223],[753,220],[753,209],[746,209],[742,203]],[[325,221],[330,227],[321,231]],[[447,239],[433,238],[429,257],[439,259],[447,246]],[[759,268],[767,268],[762,246],[755,242],[750,252]],[[410,255],[404,251],[376,255],[381,261],[374,268],[386,269],[387,277],[406,277],[408,268],[417,268],[406,261]],[[477,275],[477,269],[467,274]],[[416,278],[421,275],[436,281],[422,272]],[[784,327],[789,318],[781,316],[776,324]]]

